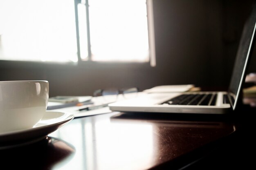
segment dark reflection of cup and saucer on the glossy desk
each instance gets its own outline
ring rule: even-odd
[[[0,150],[1,166],[6,169],[52,169],[59,167],[58,163],[63,160],[71,160],[75,152],[71,144],[47,137],[31,145]]]

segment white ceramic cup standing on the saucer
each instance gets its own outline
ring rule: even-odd
[[[32,128],[43,118],[48,98],[48,81],[0,81],[0,133]]]

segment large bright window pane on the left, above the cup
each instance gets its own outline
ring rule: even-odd
[[[76,62],[74,0],[0,0],[0,60]]]

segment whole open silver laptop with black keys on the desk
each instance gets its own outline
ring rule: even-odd
[[[255,41],[256,5],[245,22],[227,92],[139,93],[132,99],[109,104],[124,112],[225,114],[236,109]]]

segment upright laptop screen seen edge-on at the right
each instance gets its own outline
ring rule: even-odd
[[[229,85],[229,97],[234,97],[231,101],[233,110],[236,108],[239,94],[241,92],[242,84],[245,81],[245,74],[248,66],[249,57],[252,55],[255,41],[256,28],[256,4],[252,9],[252,13],[245,22],[243,33],[238,46],[236,54],[236,61],[233,68],[231,82]]]

